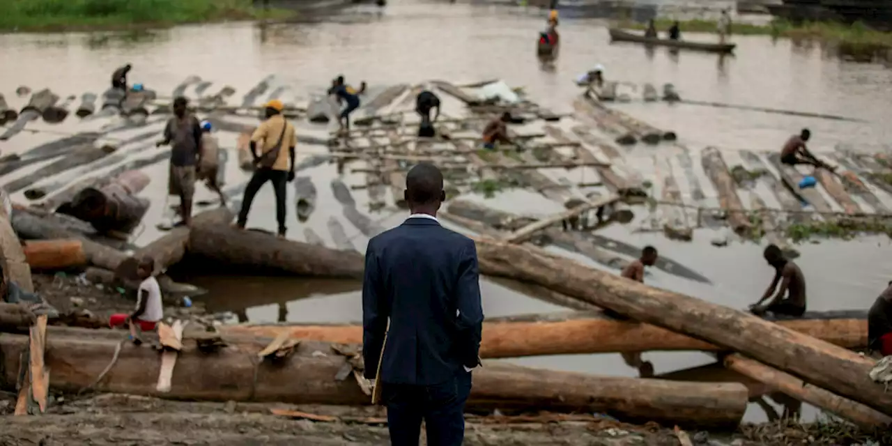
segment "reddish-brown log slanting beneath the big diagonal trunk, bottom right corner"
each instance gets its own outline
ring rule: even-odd
[[[845,418],[870,432],[876,428],[892,428],[892,417],[863,404],[848,400],[821,387],[781,372],[776,368],[748,359],[739,354],[728,355],[725,367],[764,383],[777,392],[783,392],[799,401],[813,404],[838,417]]]

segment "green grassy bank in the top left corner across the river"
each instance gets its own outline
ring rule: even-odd
[[[0,0],[0,31],[140,29],[284,13],[252,0]]]

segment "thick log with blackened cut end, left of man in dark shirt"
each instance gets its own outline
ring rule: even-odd
[[[99,187],[87,187],[74,196],[70,206],[59,212],[93,225],[100,234],[129,234],[149,210],[149,200],[137,197],[150,178],[139,170],[129,170]],[[134,192],[136,191],[136,192]]]

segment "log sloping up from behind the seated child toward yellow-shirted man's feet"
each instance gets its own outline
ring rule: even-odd
[[[237,207],[238,202],[230,203]],[[228,224],[235,218],[235,213],[229,208],[217,208],[211,211],[203,211],[195,215],[192,219],[193,226],[220,226],[228,227]],[[188,227],[175,227],[167,234],[146,244],[142,248],[136,250],[132,256],[122,259],[119,264],[109,268],[115,272],[115,277],[121,280],[136,280],[136,267],[139,260],[148,257],[155,260],[154,272],[161,273],[171,265],[176,264],[186,255],[186,249],[189,247],[190,229]]]

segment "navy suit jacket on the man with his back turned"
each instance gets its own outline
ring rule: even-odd
[[[474,241],[434,219],[410,218],[369,240],[362,283],[365,376],[432,385],[462,366],[475,367],[483,329],[479,277]]]

